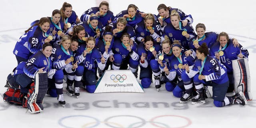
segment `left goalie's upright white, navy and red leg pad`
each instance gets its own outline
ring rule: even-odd
[[[31,113],[39,113],[44,110],[43,100],[48,88],[47,72],[36,73],[34,85],[28,93],[27,107]]]

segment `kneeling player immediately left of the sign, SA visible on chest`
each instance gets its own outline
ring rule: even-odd
[[[85,88],[89,93],[94,93],[96,90],[96,77],[95,77],[95,61],[98,64],[98,68],[103,70],[106,65],[106,59],[100,54],[100,51],[95,47],[95,38],[90,36],[86,41],[86,44],[81,44],[76,52],[76,56],[83,55],[85,60],[79,64],[84,68],[84,71],[77,70],[75,74],[83,76],[85,81]],[[79,68],[79,67],[78,67]]]

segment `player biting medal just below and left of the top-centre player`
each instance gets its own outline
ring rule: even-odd
[[[132,45],[136,39],[136,34],[132,26],[127,24],[125,18],[118,18],[117,22],[112,22],[108,26],[112,27],[113,36],[115,39],[120,39],[122,34],[128,33],[130,35],[130,44]],[[105,27],[104,27],[105,28]],[[103,28],[103,29],[104,29]]]

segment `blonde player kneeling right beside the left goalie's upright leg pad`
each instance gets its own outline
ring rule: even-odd
[[[57,92],[57,100],[58,102],[64,107],[66,102],[63,98],[63,78],[64,74],[62,70],[65,70],[67,73],[71,73],[76,71],[77,63],[72,65],[74,62],[74,56],[72,55],[72,51],[70,48],[70,36],[65,35],[62,37],[61,45],[57,45],[52,50],[52,67],[56,70],[55,74],[53,75],[54,83],[50,83],[49,91],[53,92],[50,94],[54,96],[54,89],[56,88]],[[51,79],[51,78],[50,78]],[[50,80],[50,81],[53,81]],[[54,85],[55,84],[55,88]],[[55,92],[55,93],[56,93]]]

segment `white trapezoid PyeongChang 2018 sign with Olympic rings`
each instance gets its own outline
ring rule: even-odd
[[[94,93],[144,92],[131,70],[106,70],[96,85]]]

